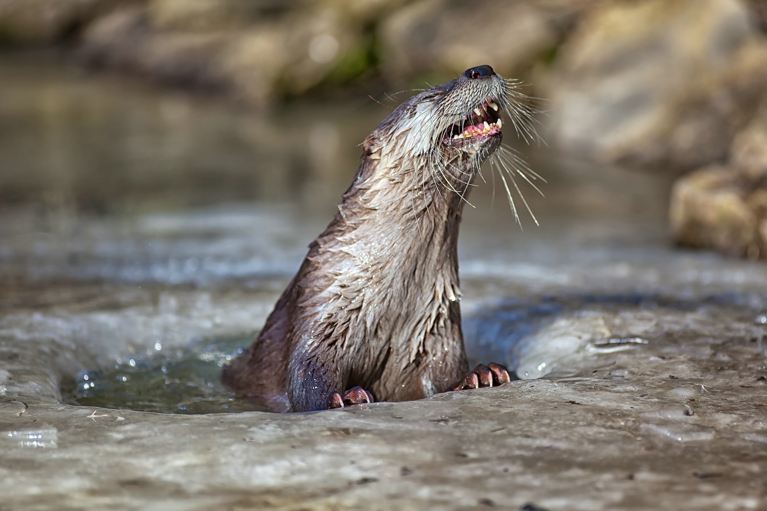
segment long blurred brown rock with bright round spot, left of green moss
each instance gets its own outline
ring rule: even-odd
[[[183,26],[180,10],[173,11],[176,18],[168,11],[158,15],[151,6],[114,11],[85,31],[81,57],[90,64],[224,90],[235,99],[264,105],[314,87],[362,41],[360,31],[331,8],[267,17],[247,28],[202,30],[190,21],[191,13],[212,2],[193,3],[184,11],[188,30],[173,28]],[[163,4],[165,9],[174,6],[170,0]]]

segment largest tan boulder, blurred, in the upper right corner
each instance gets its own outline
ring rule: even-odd
[[[630,165],[723,161],[767,86],[767,47],[750,16],[736,0],[595,8],[548,80],[553,139]]]

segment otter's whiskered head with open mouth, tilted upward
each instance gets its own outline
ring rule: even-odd
[[[368,154],[378,153],[390,169],[408,172],[403,157],[425,165],[426,179],[458,192],[479,165],[501,145],[501,114],[517,126],[530,109],[522,94],[490,66],[471,67],[446,84],[416,94],[394,110],[369,139]],[[396,173],[396,170],[395,170]],[[464,185],[461,185],[461,184]]]

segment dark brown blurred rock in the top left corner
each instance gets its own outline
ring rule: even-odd
[[[2,0],[0,41],[51,44],[112,5],[107,0]]]

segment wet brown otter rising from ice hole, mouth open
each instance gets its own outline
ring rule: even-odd
[[[509,382],[499,364],[469,372],[457,242],[472,180],[502,141],[499,114],[518,129],[520,96],[483,65],[393,110],[225,385],[273,411],[313,411]]]

